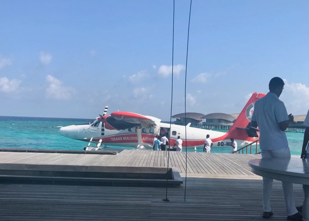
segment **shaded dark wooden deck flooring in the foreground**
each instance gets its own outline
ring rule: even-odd
[[[261,180],[187,178],[184,185],[164,187],[59,186],[0,184],[0,220],[225,220],[262,218]],[[297,205],[303,202],[301,185],[294,184]],[[281,182],[274,181],[274,215],[285,221]]]

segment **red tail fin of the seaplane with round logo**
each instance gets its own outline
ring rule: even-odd
[[[259,132],[256,128],[251,127],[251,118],[254,110],[255,102],[264,97],[266,94],[253,93],[239,116],[233,123],[233,126],[228,131],[227,138],[234,138],[239,140],[255,141],[258,139]]]

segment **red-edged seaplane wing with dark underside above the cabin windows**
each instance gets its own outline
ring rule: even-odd
[[[105,121],[105,127],[110,130],[125,130],[131,127],[151,128],[158,126],[161,122],[160,119],[155,117],[125,111],[113,112],[104,118],[103,121]]]

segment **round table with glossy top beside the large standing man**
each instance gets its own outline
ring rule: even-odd
[[[248,162],[256,175],[290,183],[303,184],[303,220],[309,221],[309,159],[253,159]]]

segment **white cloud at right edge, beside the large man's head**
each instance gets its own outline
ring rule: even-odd
[[[280,99],[285,102],[289,114],[306,114],[309,108],[309,87],[301,83],[289,83],[286,79],[284,82]]]

